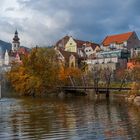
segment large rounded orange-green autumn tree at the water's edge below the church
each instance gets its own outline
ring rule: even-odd
[[[35,96],[56,89],[59,71],[55,50],[34,48],[28,57],[23,58],[23,63],[14,64],[7,75],[18,93]]]

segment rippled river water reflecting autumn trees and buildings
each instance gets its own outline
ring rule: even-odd
[[[3,98],[0,140],[140,139],[140,112],[124,100]]]

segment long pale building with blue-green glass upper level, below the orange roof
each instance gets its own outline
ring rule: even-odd
[[[88,64],[89,71],[95,67],[99,69],[109,68],[116,71],[120,68],[127,68],[128,58],[130,58],[130,52],[127,49],[102,50],[97,52],[94,58],[88,58],[85,62]]]

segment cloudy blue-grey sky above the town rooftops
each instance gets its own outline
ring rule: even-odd
[[[21,45],[51,45],[65,35],[100,43],[106,35],[136,31],[139,0],[1,0],[0,40]]]

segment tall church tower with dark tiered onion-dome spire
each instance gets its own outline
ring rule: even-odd
[[[12,42],[12,51],[13,52],[17,52],[19,47],[20,47],[20,42],[19,42],[19,37],[18,37],[18,32],[17,30],[15,31],[15,36],[13,38],[13,42]]]

